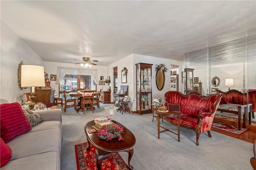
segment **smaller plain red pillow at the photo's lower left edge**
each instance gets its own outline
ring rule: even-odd
[[[0,162],[1,167],[7,164],[7,162],[12,158],[12,149],[8,144],[4,143],[4,140],[0,138],[1,144],[0,144]]]

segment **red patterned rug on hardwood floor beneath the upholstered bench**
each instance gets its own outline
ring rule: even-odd
[[[248,128],[243,128],[243,127],[241,127],[241,130],[238,130],[238,127],[236,127],[236,126],[228,125],[226,123],[221,123],[221,122],[216,122],[216,121],[212,122],[212,128],[216,128],[219,130],[223,130],[223,131],[230,132],[233,134],[238,134],[238,135],[249,130]]]

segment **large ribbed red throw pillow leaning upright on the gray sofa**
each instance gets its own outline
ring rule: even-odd
[[[5,143],[31,130],[28,118],[19,103],[4,103],[0,105],[1,138]]]

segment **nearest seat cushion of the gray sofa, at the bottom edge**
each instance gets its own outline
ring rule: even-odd
[[[60,170],[60,154],[45,152],[10,160],[1,170]]]

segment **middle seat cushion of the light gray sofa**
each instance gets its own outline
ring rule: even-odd
[[[57,128],[20,135],[8,143],[12,148],[11,160],[51,151],[57,151],[60,154],[61,141],[61,130]]]

